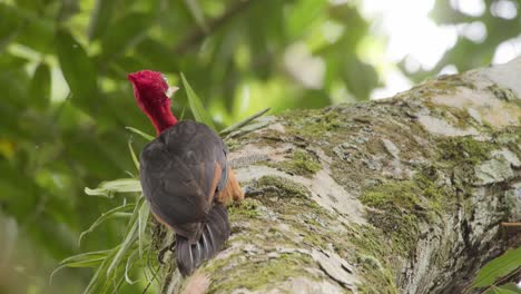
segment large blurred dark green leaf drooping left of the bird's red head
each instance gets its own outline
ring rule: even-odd
[[[56,35],[56,48],[63,77],[72,92],[72,101],[90,109],[97,99],[97,72],[86,50],[66,30],[59,29]]]

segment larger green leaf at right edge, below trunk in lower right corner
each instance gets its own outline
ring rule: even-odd
[[[473,287],[485,287],[492,285],[498,278],[510,274],[521,266],[521,247],[510,249],[501,256],[485,264],[474,282]]]

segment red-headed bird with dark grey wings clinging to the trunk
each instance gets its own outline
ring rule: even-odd
[[[157,134],[140,153],[142,194],[155,218],[175,232],[170,249],[187,276],[223,248],[230,235],[226,206],[244,199],[244,190],[220,137],[205,124],[174,116],[160,72],[140,70],[127,78]]]

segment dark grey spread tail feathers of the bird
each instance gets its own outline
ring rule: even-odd
[[[229,237],[229,222],[226,207],[215,204],[208,213],[203,234],[197,243],[176,235],[176,262],[179,272],[190,275],[204,261],[214,257]]]

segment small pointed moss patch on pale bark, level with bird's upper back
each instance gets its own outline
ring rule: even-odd
[[[291,160],[271,163],[268,165],[291,175],[301,175],[306,177],[311,177],[322,168],[315,157],[303,150],[295,151]]]

